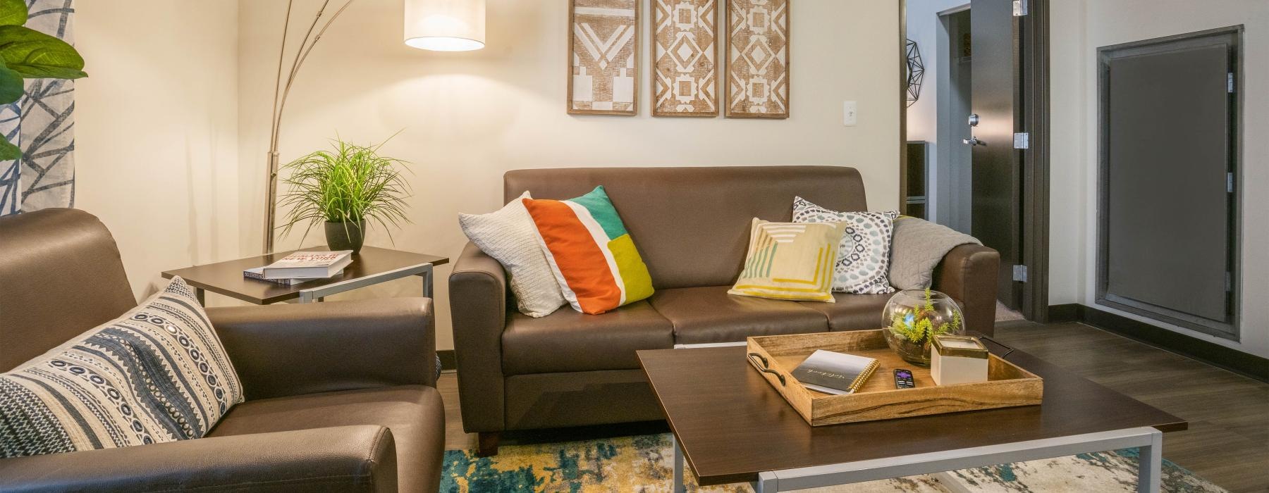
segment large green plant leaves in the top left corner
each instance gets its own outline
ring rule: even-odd
[[[24,27],[24,0],[0,0],[0,104],[22,98],[23,79],[80,79],[84,57],[70,43]],[[0,160],[22,157],[22,150],[0,136]]]

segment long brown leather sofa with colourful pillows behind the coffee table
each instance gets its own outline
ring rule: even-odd
[[[499,432],[662,419],[634,351],[746,336],[877,328],[887,294],[836,303],[727,295],[744,261],[750,219],[789,221],[796,195],[835,210],[867,210],[859,172],[836,166],[518,170],[503,199],[528,190],[567,199],[604,185],[652,275],[656,294],[588,316],[563,307],[530,318],[509,302],[496,260],[468,243],[449,276],[463,427],[496,454]],[[970,330],[992,332],[1000,256],[961,246],[934,289],[964,307]]]

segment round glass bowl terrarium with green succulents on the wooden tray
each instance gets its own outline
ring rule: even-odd
[[[929,366],[934,336],[963,335],[961,307],[950,297],[929,289],[895,293],[882,313],[886,343],[904,361]]]

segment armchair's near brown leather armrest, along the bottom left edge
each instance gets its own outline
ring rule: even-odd
[[[396,492],[396,444],[359,425],[0,459],[0,492]]]

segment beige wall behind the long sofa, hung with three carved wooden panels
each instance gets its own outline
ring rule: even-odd
[[[311,13],[315,1],[297,1]],[[798,1],[792,9],[792,118],[651,118],[642,37],[638,117],[565,113],[566,1],[489,0],[487,46],[437,53],[401,43],[401,1],[359,0],[326,33],[292,91],[283,161],[345,139],[374,142],[402,131],[383,152],[412,161],[412,224],[397,247],[457,256],[459,212],[501,205],[506,170],[560,166],[844,165],[860,170],[873,209],[897,207],[898,23],[893,3]],[[647,1],[642,11],[646,14]],[[282,1],[240,3],[240,156],[244,248],[260,241],[270,82],[277,70]],[[895,47],[895,48],[892,48]],[[859,124],[841,124],[857,100]],[[708,184],[702,184],[708,186]],[[317,245],[310,237],[306,245]],[[288,238],[283,246],[298,243]],[[391,246],[382,232],[372,245]],[[452,347],[445,276],[438,276],[438,346]],[[372,295],[416,295],[397,281]],[[359,295],[367,295],[360,293]]]

